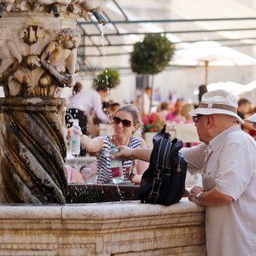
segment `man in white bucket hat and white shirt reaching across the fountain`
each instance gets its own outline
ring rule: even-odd
[[[191,174],[203,188],[189,200],[206,206],[207,255],[256,255],[256,143],[241,131],[236,97],[226,90],[207,92],[190,113],[201,144],[183,148]],[[120,147],[115,158],[150,160],[151,148]]]

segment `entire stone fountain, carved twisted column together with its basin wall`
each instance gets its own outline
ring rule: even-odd
[[[186,199],[66,204],[61,90],[78,71],[76,20],[105,23],[104,2],[0,3],[0,255],[206,254],[204,208]]]

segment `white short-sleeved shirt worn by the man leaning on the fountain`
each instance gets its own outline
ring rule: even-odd
[[[206,207],[207,255],[256,255],[256,143],[238,127],[183,149],[188,171],[201,172],[205,190],[217,189],[234,201]]]

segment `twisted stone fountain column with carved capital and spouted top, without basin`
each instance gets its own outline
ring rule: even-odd
[[[76,20],[105,1],[4,0],[0,4],[0,201],[66,203],[66,144],[62,134],[79,33]]]

